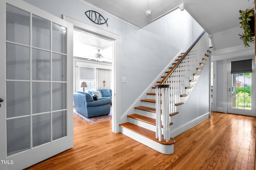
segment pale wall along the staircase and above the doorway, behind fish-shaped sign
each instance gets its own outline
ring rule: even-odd
[[[96,25],[84,14],[87,10],[95,9],[77,0],[24,1],[60,18],[64,14],[121,36],[121,76],[127,78],[127,83],[121,86],[121,101],[124,101],[121,103],[122,113],[140,96],[166,63],[180,50],[187,50],[203,31],[186,10],[176,10],[138,29],[104,12],[99,13],[108,18],[108,27],[105,24]]]

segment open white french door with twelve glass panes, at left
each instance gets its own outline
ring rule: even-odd
[[[73,147],[73,25],[21,0],[0,2],[0,169]]]

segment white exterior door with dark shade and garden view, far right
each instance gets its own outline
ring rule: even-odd
[[[231,62],[239,60],[244,59],[228,60],[228,113],[256,116],[255,60],[252,72],[231,74]]]

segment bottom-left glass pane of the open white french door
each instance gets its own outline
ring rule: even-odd
[[[30,117],[6,121],[7,156],[30,149]]]

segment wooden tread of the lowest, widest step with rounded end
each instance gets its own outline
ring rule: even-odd
[[[170,141],[167,143],[165,140],[164,140],[164,137],[162,135],[162,141],[160,142],[158,139],[156,139],[156,133],[153,132],[153,131],[150,131],[148,129],[145,129],[143,127],[140,127],[140,126],[137,126],[137,125],[134,125],[132,123],[123,123],[123,124],[120,124],[121,127],[124,127],[126,129],[129,129],[130,131],[133,131],[135,133],[138,133],[148,139],[151,139],[152,141],[155,141],[157,143],[161,143],[163,145],[172,145],[175,143],[175,139],[171,138]]]

